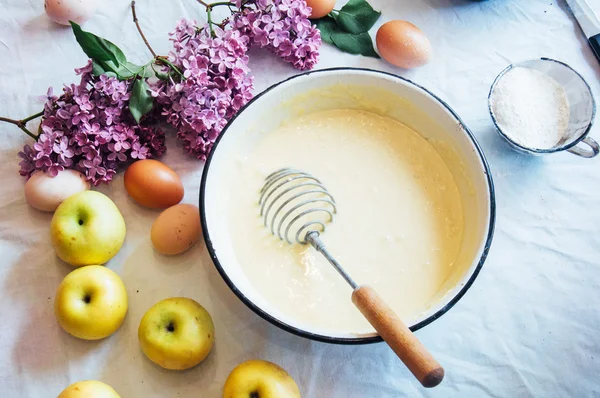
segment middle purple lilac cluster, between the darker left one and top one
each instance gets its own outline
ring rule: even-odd
[[[177,128],[184,149],[206,160],[227,121],[252,98],[248,37],[181,20],[171,33],[169,61],[183,77],[152,85],[161,114]]]

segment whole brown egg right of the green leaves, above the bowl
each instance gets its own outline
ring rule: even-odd
[[[377,49],[392,65],[417,68],[431,58],[431,43],[421,29],[407,21],[389,21],[377,31]]]

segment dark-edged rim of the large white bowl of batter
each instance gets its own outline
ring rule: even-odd
[[[210,165],[213,159],[213,156],[219,146],[219,142],[221,141],[221,139],[225,136],[225,134],[227,133],[229,127],[233,124],[233,122],[236,120],[236,118],[242,113],[244,112],[248,107],[250,107],[255,101],[257,101],[259,98],[261,98],[263,95],[273,91],[274,89],[276,89],[277,87],[279,87],[280,85],[289,82],[291,80],[294,79],[298,79],[301,77],[306,77],[308,75],[312,75],[312,74],[327,74],[327,73],[332,73],[332,72],[366,72],[369,74],[374,74],[374,75],[384,75],[386,77],[392,77],[395,79],[399,79],[405,83],[408,83],[410,85],[415,86],[416,88],[423,90],[425,93],[427,93],[429,96],[431,96],[434,100],[436,100],[437,102],[439,102],[443,107],[446,108],[446,110],[448,112],[450,112],[450,114],[459,122],[461,129],[466,133],[467,137],[470,139],[471,143],[473,144],[473,146],[475,147],[476,151],[477,151],[477,155],[479,156],[479,160],[481,162],[481,165],[483,166],[483,172],[486,176],[486,182],[487,182],[487,188],[488,188],[488,192],[489,192],[489,197],[490,197],[490,217],[489,217],[489,226],[488,226],[488,231],[487,231],[487,236],[485,238],[485,245],[483,247],[483,251],[481,253],[481,256],[479,258],[479,261],[477,263],[477,266],[475,267],[475,269],[473,270],[473,273],[471,274],[471,276],[469,277],[469,279],[464,283],[464,285],[462,286],[462,288],[455,294],[455,296],[446,304],[444,305],[442,308],[440,308],[438,311],[436,311],[434,314],[430,315],[429,317],[427,317],[426,319],[423,319],[421,322],[413,325],[410,327],[410,330],[412,330],[413,332],[416,330],[421,329],[422,327],[430,324],[431,322],[435,321],[436,319],[440,318],[442,315],[444,315],[446,312],[448,312],[450,310],[450,308],[452,308],[467,292],[467,290],[469,290],[469,288],[471,287],[471,285],[473,284],[473,282],[475,281],[475,279],[477,278],[479,272],[481,271],[481,268],[483,267],[483,264],[487,258],[487,255],[489,253],[491,244],[492,244],[492,238],[494,236],[494,228],[495,228],[495,222],[496,222],[496,196],[495,196],[495,189],[494,189],[494,182],[492,180],[492,174],[490,171],[490,167],[488,165],[488,162],[485,158],[485,155],[483,153],[483,150],[481,149],[479,143],[477,142],[477,139],[475,138],[475,136],[473,135],[473,133],[471,132],[471,130],[469,130],[469,128],[466,126],[466,124],[462,121],[462,119],[456,114],[456,112],[445,102],[443,101],[441,98],[439,98],[438,96],[436,96],[435,94],[433,94],[431,91],[429,91],[428,89],[426,89],[425,87],[414,83],[413,81],[403,78],[401,76],[395,75],[393,73],[389,73],[389,72],[384,72],[384,71],[379,71],[379,70],[375,70],[375,69],[368,69],[368,68],[354,68],[354,67],[335,67],[335,68],[326,68],[326,69],[319,69],[319,70],[314,70],[314,71],[309,71],[309,72],[304,72],[304,73],[300,73],[294,76],[291,76],[289,78],[286,78],[284,80],[281,80],[271,86],[269,86],[268,88],[266,88],[264,91],[262,91],[261,93],[257,94],[256,96],[254,96],[254,98],[252,98],[252,100],[250,100],[246,105],[244,105],[232,118],[231,120],[229,120],[229,122],[227,123],[227,125],[223,128],[223,130],[221,131],[221,134],[219,134],[219,137],[217,137],[217,139],[215,140],[215,143],[213,144],[213,148],[210,152],[210,154],[208,155],[208,158],[206,160],[206,163],[204,165],[204,170],[202,171],[202,180],[200,183],[200,220],[201,220],[201,224],[202,224],[202,234],[204,236],[204,242],[206,244],[206,247],[208,249],[210,258],[212,259],[212,262],[215,266],[215,268],[217,269],[217,271],[219,272],[219,274],[221,275],[221,277],[223,278],[223,280],[225,281],[225,283],[227,284],[227,286],[229,287],[229,289],[238,297],[238,299],[240,301],[242,301],[248,308],[250,308],[255,314],[257,314],[258,316],[260,316],[261,318],[263,318],[264,320],[266,320],[267,322],[277,326],[280,329],[283,329],[289,333],[295,334],[297,336],[300,337],[304,337],[304,338],[308,338],[310,340],[314,340],[314,341],[320,341],[320,342],[324,342],[324,343],[333,343],[333,344],[345,344],[345,345],[356,345],[356,344],[371,344],[371,343],[378,343],[383,341],[382,338],[380,336],[367,336],[367,337],[334,337],[334,336],[328,336],[328,335],[324,335],[324,334],[317,334],[317,333],[312,333],[312,332],[308,332],[306,330],[302,330],[299,329],[295,326],[291,326],[279,319],[277,319],[276,317],[274,317],[273,315],[269,314],[267,311],[263,310],[262,308],[260,308],[259,306],[257,306],[256,304],[254,304],[248,297],[246,297],[244,295],[243,292],[241,292],[237,286],[233,283],[233,281],[229,278],[229,276],[227,275],[227,272],[225,271],[225,269],[223,268],[223,266],[221,265],[219,258],[216,255],[215,249],[213,247],[212,244],[212,239],[210,237],[210,232],[208,230],[208,224],[206,222],[206,207],[205,207],[205,203],[206,203],[206,182],[208,180],[208,175],[210,173]]]

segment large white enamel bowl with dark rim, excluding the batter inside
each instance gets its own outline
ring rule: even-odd
[[[453,274],[431,305],[413,322],[419,329],[447,312],[474,282],[489,250],[495,221],[495,200],[489,167],[475,137],[456,113],[431,92],[391,74],[352,68],[309,72],[278,83],[257,95],[223,130],[207,160],[200,188],[200,209],[206,245],[231,290],[250,309],[291,333],[333,343],[380,341],[374,333],[326,332],[275,310],[247,279],[228,237],[227,210],[219,206],[223,176],[231,174],[236,157],[248,142],[259,140],[284,120],[336,108],[367,109],[393,117],[429,140],[446,160],[462,197],[465,231]],[[257,127],[258,126],[258,127]],[[254,141],[256,142],[256,141]],[[357,160],[360,161],[360,160]],[[350,297],[348,297],[350,300]]]

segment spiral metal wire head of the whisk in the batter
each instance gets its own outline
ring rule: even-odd
[[[295,230],[297,243],[306,244],[306,235],[325,231],[325,224],[333,221],[337,212],[335,199],[321,181],[291,168],[267,176],[258,204],[265,227],[289,244],[292,244],[290,231]],[[298,227],[298,221],[304,224]]]

